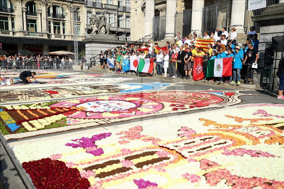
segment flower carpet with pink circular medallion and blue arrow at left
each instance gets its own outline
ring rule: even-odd
[[[57,95],[54,90],[45,93]],[[238,98],[241,95],[240,91],[157,91],[20,105],[1,104],[0,131],[6,140],[26,138],[154,115],[235,105],[241,102]]]

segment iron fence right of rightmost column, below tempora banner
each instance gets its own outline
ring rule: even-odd
[[[256,16],[256,15],[260,15],[261,12],[265,11],[268,6],[273,5],[273,4],[278,4],[279,0],[267,0],[265,8],[256,9],[256,10],[249,10],[249,11],[247,10],[248,9],[248,3],[249,2],[246,1],[246,12],[245,12],[245,20],[244,20],[245,32],[249,33],[249,31],[250,31],[249,28],[251,26],[255,26],[255,31],[257,33],[259,33],[260,25],[257,22],[253,22],[251,17]]]

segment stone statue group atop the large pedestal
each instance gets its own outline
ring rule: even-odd
[[[96,35],[110,35],[110,23],[107,23],[105,15],[106,10],[101,12],[101,15],[90,15],[90,26],[93,29],[91,34]]]

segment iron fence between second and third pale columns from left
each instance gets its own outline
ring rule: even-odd
[[[191,9],[177,12],[174,15],[174,33],[180,32],[180,36],[188,35],[191,32]]]

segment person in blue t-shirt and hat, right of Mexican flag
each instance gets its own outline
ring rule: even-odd
[[[238,74],[237,85],[241,84],[241,69],[242,69],[242,62],[244,60],[244,56],[240,50],[241,50],[240,46],[235,47],[236,54],[234,55],[234,59],[233,59],[233,81],[230,82],[230,84],[236,83],[237,74]]]

